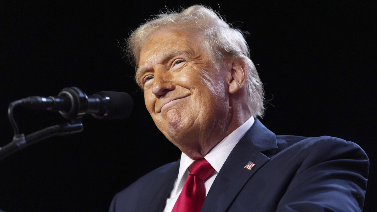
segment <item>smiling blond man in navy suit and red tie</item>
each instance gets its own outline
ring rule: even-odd
[[[110,211],[362,210],[365,152],[265,128],[245,39],[210,8],[161,14],[128,45],[146,107],[182,156],[118,193]]]

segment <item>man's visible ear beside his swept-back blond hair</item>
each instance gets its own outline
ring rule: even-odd
[[[229,81],[228,92],[230,94],[236,94],[240,92],[246,84],[248,70],[245,61],[242,59],[233,61],[230,71],[231,80]]]

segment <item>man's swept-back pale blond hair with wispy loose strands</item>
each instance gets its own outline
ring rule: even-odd
[[[203,50],[210,55],[214,68],[218,70],[224,65],[225,58],[241,58],[248,69],[245,86],[251,115],[257,117],[264,114],[263,84],[254,63],[250,60],[250,50],[242,31],[232,28],[217,12],[207,6],[193,5],[180,12],[161,12],[133,31],[126,40],[126,51],[136,69],[141,47],[147,37],[164,28],[201,32],[202,39],[199,42]],[[136,81],[139,84],[138,79]]]

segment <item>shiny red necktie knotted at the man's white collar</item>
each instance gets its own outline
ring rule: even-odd
[[[204,181],[215,169],[204,158],[194,161],[188,168],[190,175],[172,212],[199,212],[205,199]]]

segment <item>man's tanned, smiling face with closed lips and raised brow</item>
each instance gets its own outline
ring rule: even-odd
[[[141,48],[136,72],[153,121],[179,148],[220,141],[230,116],[231,64],[212,68],[195,40],[194,33],[153,33]]]

